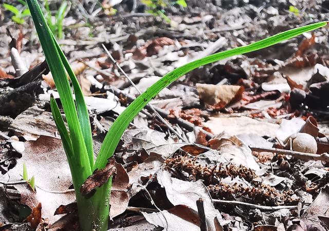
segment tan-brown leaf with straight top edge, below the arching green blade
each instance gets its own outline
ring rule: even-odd
[[[205,103],[209,105],[223,104],[237,101],[242,98],[244,92],[243,86],[235,85],[213,85],[213,84],[196,84],[197,91]]]

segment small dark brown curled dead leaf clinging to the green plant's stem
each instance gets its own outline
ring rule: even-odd
[[[90,198],[96,192],[96,188],[104,185],[109,177],[116,173],[115,159],[112,157],[107,162],[105,168],[95,170],[85,183],[81,186],[80,192],[83,197]]]

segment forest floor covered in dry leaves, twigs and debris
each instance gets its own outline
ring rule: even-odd
[[[49,13],[61,3],[50,1]],[[67,4],[54,31],[85,95],[95,155],[138,92],[174,68],[329,18],[327,0],[190,0],[162,17],[139,1],[114,15],[108,1]],[[79,230],[50,111],[59,96],[32,20],[11,17],[1,5],[0,231]],[[116,150],[109,230],[328,230],[328,50],[322,28],[197,68],[161,91]]]

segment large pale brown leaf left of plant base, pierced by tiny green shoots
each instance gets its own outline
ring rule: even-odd
[[[14,185],[21,193],[21,203],[31,209],[42,203],[42,216],[54,222],[60,218],[59,215],[53,215],[54,211],[60,205],[72,203],[76,199],[74,192],[67,191],[72,182],[62,141],[54,137],[40,136],[37,140],[26,141],[24,145],[22,158],[17,160],[17,165],[13,169],[0,176],[0,180],[22,180],[24,162],[29,177],[35,177],[36,188],[34,192],[28,184]],[[66,192],[56,193],[60,191]]]

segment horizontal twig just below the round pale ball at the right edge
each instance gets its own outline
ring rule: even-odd
[[[324,161],[329,162],[329,154],[328,153],[322,153],[321,155],[313,154],[313,153],[306,153],[306,152],[296,152],[296,151],[290,151],[290,150],[283,150],[278,148],[261,148],[261,147],[255,147],[255,146],[249,146],[249,148],[252,151],[257,152],[271,152],[271,153],[277,153],[277,154],[284,154],[284,155],[291,155],[296,158],[302,159],[303,161]]]

